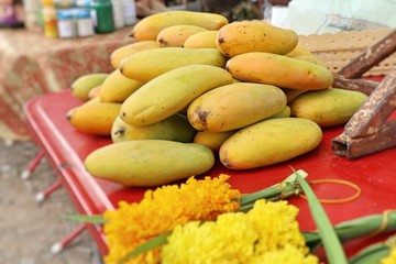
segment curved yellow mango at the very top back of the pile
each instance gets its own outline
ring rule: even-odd
[[[158,33],[172,25],[197,25],[207,30],[219,30],[228,24],[228,19],[221,14],[172,10],[148,15],[132,28],[131,36],[138,41],[155,41]]]

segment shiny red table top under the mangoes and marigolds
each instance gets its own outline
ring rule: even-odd
[[[46,94],[30,100],[24,112],[31,133],[36,143],[53,163],[61,179],[70,195],[77,210],[84,215],[102,213],[117,208],[119,200],[138,201],[145,188],[123,187],[119,184],[94,178],[84,167],[85,157],[94,150],[110,144],[109,136],[89,135],[76,131],[66,120],[66,113],[81,102],[75,99],[69,90]],[[393,118],[396,114],[393,114]],[[354,201],[328,205],[323,208],[330,221],[341,221],[382,213],[396,208],[396,148],[386,150],[373,155],[350,161],[332,153],[331,139],[342,132],[343,128],[323,130],[321,144],[310,153],[282,164],[251,169],[230,170],[217,163],[206,175],[217,176],[220,173],[230,175],[229,183],[242,194],[256,191],[282,182],[292,174],[290,167],[304,169],[311,179],[344,179],[356,184],[362,195]],[[350,187],[342,185],[314,185],[320,198],[344,198],[354,194]],[[299,208],[298,221],[302,231],[311,231],[316,226],[310,216],[308,204],[304,198],[290,198],[289,202]],[[100,252],[107,254],[106,238],[100,227],[89,226],[91,235],[99,245]],[[350,256],[367,243],[385,239],[360,239],[344,245]]]

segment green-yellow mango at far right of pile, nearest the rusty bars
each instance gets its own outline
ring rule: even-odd
[[[290,103],[292,116],[310,119],[321,128],[345,124],[366,99],[363,92],[339,88],[307,91]]]

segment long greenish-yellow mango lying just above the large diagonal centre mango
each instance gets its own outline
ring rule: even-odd
[[[227,58],[217,48],[167,47],[140,52],[122,61],[121,73],[131,79],[148,81],[172,69],[193,65],[224,68]]]

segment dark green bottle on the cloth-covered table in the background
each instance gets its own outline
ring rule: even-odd
[[[110,33],[116,30],[110,0],[92,0],[91,16],[94,19],[95,32]]]

